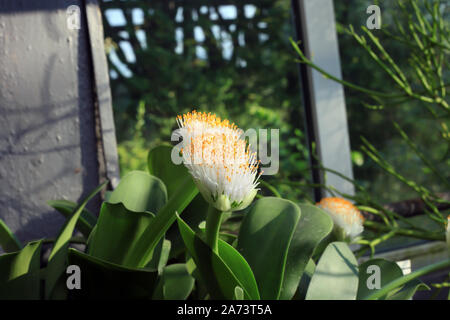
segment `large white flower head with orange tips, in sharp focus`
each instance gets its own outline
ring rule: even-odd
[[[247,207],[257,193],[256,153],[242,130],[215,114],[192,111],[177,117],[182,157],[205,200],[221,211]]]

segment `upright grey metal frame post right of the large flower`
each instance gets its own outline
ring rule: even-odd
[[[322,69],[341,78],[333,1],[292,0],[292,9],[303,52]],[[313,182],[353,195],[352,183],[317,168],[320,161],[323,167],[353,179],[344,89],[304,64],[300,64],[300,75]],[[314,158],[314,149],[318,160]],[[317,201],[329,195],[325,189],[315,190]]]

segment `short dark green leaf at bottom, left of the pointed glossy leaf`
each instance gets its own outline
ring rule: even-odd
[[[189,274],[186,264],[171,264],[164,268],[158,283],[157,295],[153,299],[186,300],[194,288],[194,278]],[[157,292],[159,291],[159,292]]]

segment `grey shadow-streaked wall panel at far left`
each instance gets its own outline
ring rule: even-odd
[[[79,30],[67,27],[70,5]],[[88,32],[102,28],[87,26],[81,0],[0,0],[0,218],[22,241],[55,237],[64,219],[46,201],[78,201],[104,176]]]

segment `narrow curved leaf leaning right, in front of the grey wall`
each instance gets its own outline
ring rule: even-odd
[[[48,265],[46,268],[46,282],[45,282],[45,297],[49,298],[52,294],[53,288],[56,285],[58,279],[64,273],[66,260],[67,260],[67,248],[69,246],[69,240],[72,237],[73,230],[77,224],[78,218],[83,212],[86,204],[91,200],[101,189],[103,189],[108,180],[99,185],[94,191],[92,191],[86,199],[77,207],[72,216],[66,220],[61,228],[61,231],[56,238],[53,249],[48,259]]]

